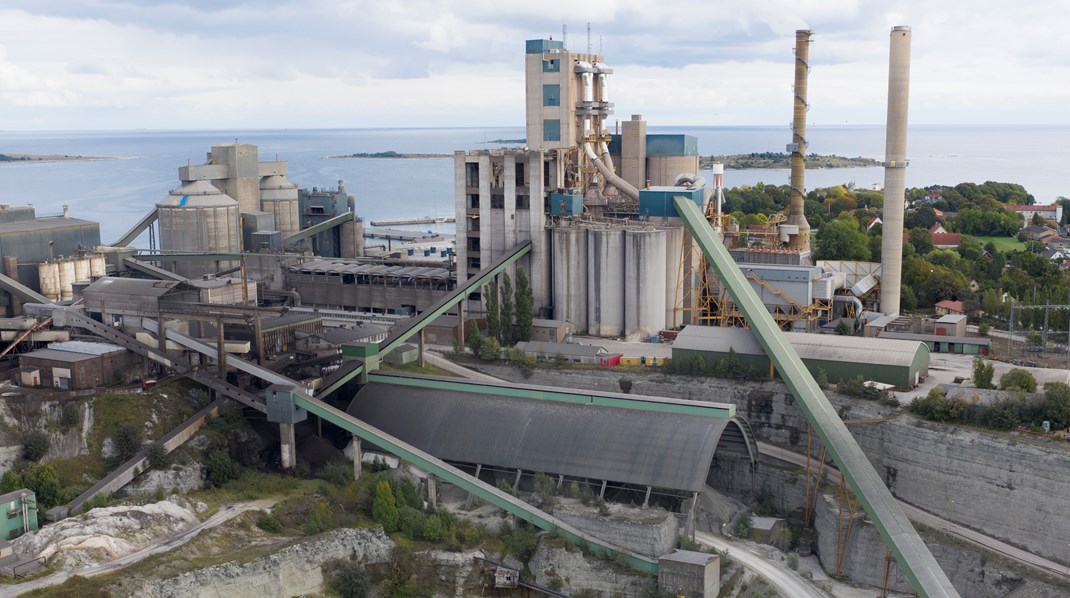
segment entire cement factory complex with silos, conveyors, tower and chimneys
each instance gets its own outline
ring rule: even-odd
[[[357,477],[362,450],[388,453],[427,472],[432,487],[446,481],[598,554],[667,570],[678,553],[615,546],[503,492],[495,476],[507,472],[514,486],[536,472],[559,487],[596,480],[599,496],[609,488],[645,506],[653,491],[693,512],[717,467],[756,466],[755,439],[734,405],[379,370],[395,358],[423,363],[426,343],[463,347],[469,320],[486,318],[485,286],[521,269],[548,329],[630,341],[678,335],[674,357],[764,359],[754,363],[785,381],[914,591],[957,596],[813,378],[819,367],[866,371],[911,388],[928,373],[919,338],[816,334],[841,319],[861,328],[899,317],[911,30],[891,30],[880,264],[811,254],[810,43],[810,31],[797,32],[791,203],[763,227],[742,229],[721,213],[723,167],[700,171],[694,137],[647,133],[640,114],[617,125],[607,59],[554,40],[525,44],[526,145],[454,154],[453,243],[366,228],[342,181],[299,188],[286,162],[260,162],[255,145],[238,142],[179,167],[175,188],[110,244],[66,211],[4,206],[9,318],[0,322],[21,349],[15,378],[60,389],[190,378],[277,425],[282,469],[297,462],[312,415],[352,438]],[[132,247],[138,239],[148,246]],[[366,239],[391,242],[372,250]],[[944,324],[964,335],[964,317]],[[92,336],[106,343],[71,343]],[[51,340],[66,342],[46,348]],[[137,365],[118,353],[139,356]],[[501,428],[496,441],[469,440],[491,428]],[[575,442],[560,442],[562,430]],[[709,588],[700,587],[673,591]]]

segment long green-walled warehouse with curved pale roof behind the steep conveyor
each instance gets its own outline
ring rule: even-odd
[[[816,375],[824,370],[834,383],[861,375],[867,381],[911,388],[929,375],[929,349],[916,340],[809,333],[785,336],[810,373]],[[673,342],[672,358],[678,364],[701,356],[713,365],[731,350],[744,366],[769,371],[769,358],[749,328],[687,326]]]

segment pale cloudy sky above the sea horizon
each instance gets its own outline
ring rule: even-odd
[[[600,47],[618,118],[884,122],[913,28],[911,122],[1070,123],[1070,2],[3,0],[0,129],[520,126],[523,41]]]

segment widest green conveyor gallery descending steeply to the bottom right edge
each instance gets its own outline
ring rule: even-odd
[[[728,249],[714,234],[705,215],[686,197],[676,197],[673,203],[676,205],[676,213],[702,247],[702,252],[713,264],[718,279],[732,293],[762,348],[773,358],[777,371],[797,399],[797,404],[873,520],[885,545],[904,569],[911,585],[920,596],[959,596],[813,375],[802,365]]]

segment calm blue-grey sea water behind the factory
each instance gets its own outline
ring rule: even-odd
[[[782,152],[786,126],[651,127],[651,133],[699,138],[703,155]],[[1070,125],[914,126],[907,141],[911,187],[961,182],[1020,183],[1039,203],[1070,196],[1063,175]],[[449,154],[501,147],[522,128],[377,128],[295,131],[0,132],[0,153],[117,157],[101,162],[0,163],[0,203],[33,204],[55,214],[63,204],[74,217],[101,223],[105,243],[118,239],[179,186],[178,168],[203,164],[213,144],[259,147],[261,160],[289,163],[288,179],[302,187],[333,188],[345,181],[366,220],[454,215],[453,159],[339,159],[331,156],[395,151]],[[884,157],[883,126],[812,126],[809,151],[847,157]],[[516,145],[513,145],[516,147]],[[727,186],[788,184],[788,170],[728,171]],[[853,183],[871,188],[881,168],[807,172],[807,187]],[[419,228],[419,227],[417,227]],[[435,228],[427,226],[423,228]],[[439,225],[452,232],[452,225]]]

